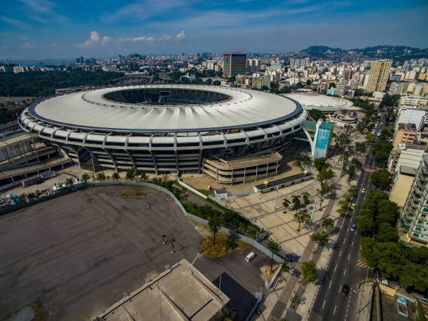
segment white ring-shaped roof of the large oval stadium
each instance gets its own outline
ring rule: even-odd
[[[118,90],[183,89],[226,94],[227,101],[194,105],[136,105],[107,100]],[[111,131],[200,131],[251,127],[285,120],[301,113],[291,99],[257,90],[204,85],[145,85],[115,87],[51,97],[28,108],[33,117],[64,127]],[[331,97],[327,97],[331,99]],[[342,99],[343,100],[343,99]],[[343,100],[344,101],[344,100]]]

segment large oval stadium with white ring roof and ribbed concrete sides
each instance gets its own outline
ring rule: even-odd
[[[241,88],[141,85],[37,101],[20,126],[82,169],[206,173],[239,183],[278,173],[308,113],[294,99]]]

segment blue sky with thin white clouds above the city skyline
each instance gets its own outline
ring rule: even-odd
[[[0,0],[0,60],[428,47],[427,0]]]

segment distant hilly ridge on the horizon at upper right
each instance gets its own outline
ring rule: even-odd
[[[297,55],[341,61],[361,61],[368,59],[404,61],[408,59],[428,58],[428,48],[412,48],[405,45],[376,45],[375,47],[344,50],[341,48],[330,48],[325,45],[312,45],[301,50]]]

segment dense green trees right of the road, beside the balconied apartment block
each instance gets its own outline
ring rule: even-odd
[[[384,278],[399,280],[407,290],[428,291],[428,248],[399,240],[399,208],[388,194],[371,190],[357,217],[361,255]]]

